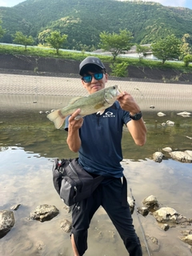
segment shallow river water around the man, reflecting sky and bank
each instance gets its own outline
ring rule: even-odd
[[[128,195],[131,188],[137,206],[142,206],[142,200],[154,194],[162,206],[173,207],[179,214],[192,218],[191,163],[174,161],[168,154],[161,163],[154,162],[152,157],[155,151],[166,146],[173,150],[192,150],[192,140],[186,138],[192,137],[192,117],[182,118],[174,111],[163,112],[166,113],[164,117],[158,117],[156,110],[143,113],[148,130],[145,146],[135,146],[129,132],[125,129],[123,133],[125,161],[122,164],[129,186]],[[166,120],[174,121],[175,125],[162,127]],[[73,255],[69,234],[60,227],[63,219],[70,220],[70,214],[54,190],[51,173],[53,158],[77,156],[66,146],[66,132],[54,129],[46,114],[39,114],[38,110],[3,110],[0,132],[0,210],[9,210],[22,203],[14,211],[14,227],[0,240],[0,255]],[[50,222],[29,220],[30,212],[44,203],[56,206],[60,214]],[[147,255],[137,214],[133,217],[144,255]],[[153,251],[153,255],[191,255],[189,246],[179,240],[181,230],[185,229],[178,226],[165,232],[151,215],[140,216],[140,219],[145,233],[158,238],[160,249]],[[89,234],[86,256],[127,255],[102,208],[94,215]],[[148,245],[151,246],[150,241]]]

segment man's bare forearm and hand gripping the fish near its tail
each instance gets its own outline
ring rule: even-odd
[[[66,142],[71,151],[78,152],[81,146],[81,138],[79,137],[79,129],[82,127],[83,119],[75,120],[74,118],[80,113],[80,109],[71,114],[69,118],[68,136]]]

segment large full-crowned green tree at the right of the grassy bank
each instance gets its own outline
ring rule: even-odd
[[[160,39],[158,42],[151,44],[151,50],[155,57],[162,60],[162,64],[168,59],[178,59],[181,54],[181,40],[174,34]]]

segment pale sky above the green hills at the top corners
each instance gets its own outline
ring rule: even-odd
[[[121,1],[131,1],[131,0],[121,0]],[[159,2],[163,6],[186,7],[192,10],[192,0],[142,0],[142,1]],[[20,2],[24,2],[24,1],[23,0],[0,0],[0,6],[12,7],[12,6],[16,6]]]

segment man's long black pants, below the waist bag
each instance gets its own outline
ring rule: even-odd
[[[82,256],[87,250],[87,230],[91,218],[98,207],[102,206],[118,230],[130,256],[142,256],[142,249],[135,233],[133,219],[127,203],[122,206],[122,181],[115,178],[110,184],[100,184],[90,198],[78,202],[72,213],[72,231],[78,254]]]

